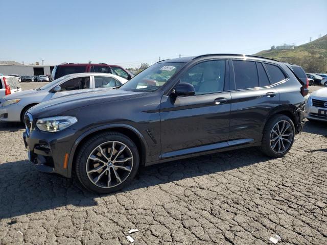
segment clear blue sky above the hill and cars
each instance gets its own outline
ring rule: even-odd
[[[0,8],[0,60],[25,64],[135,67],[159,56],[254,54],[327,34],[326,0],[11,0]]]

